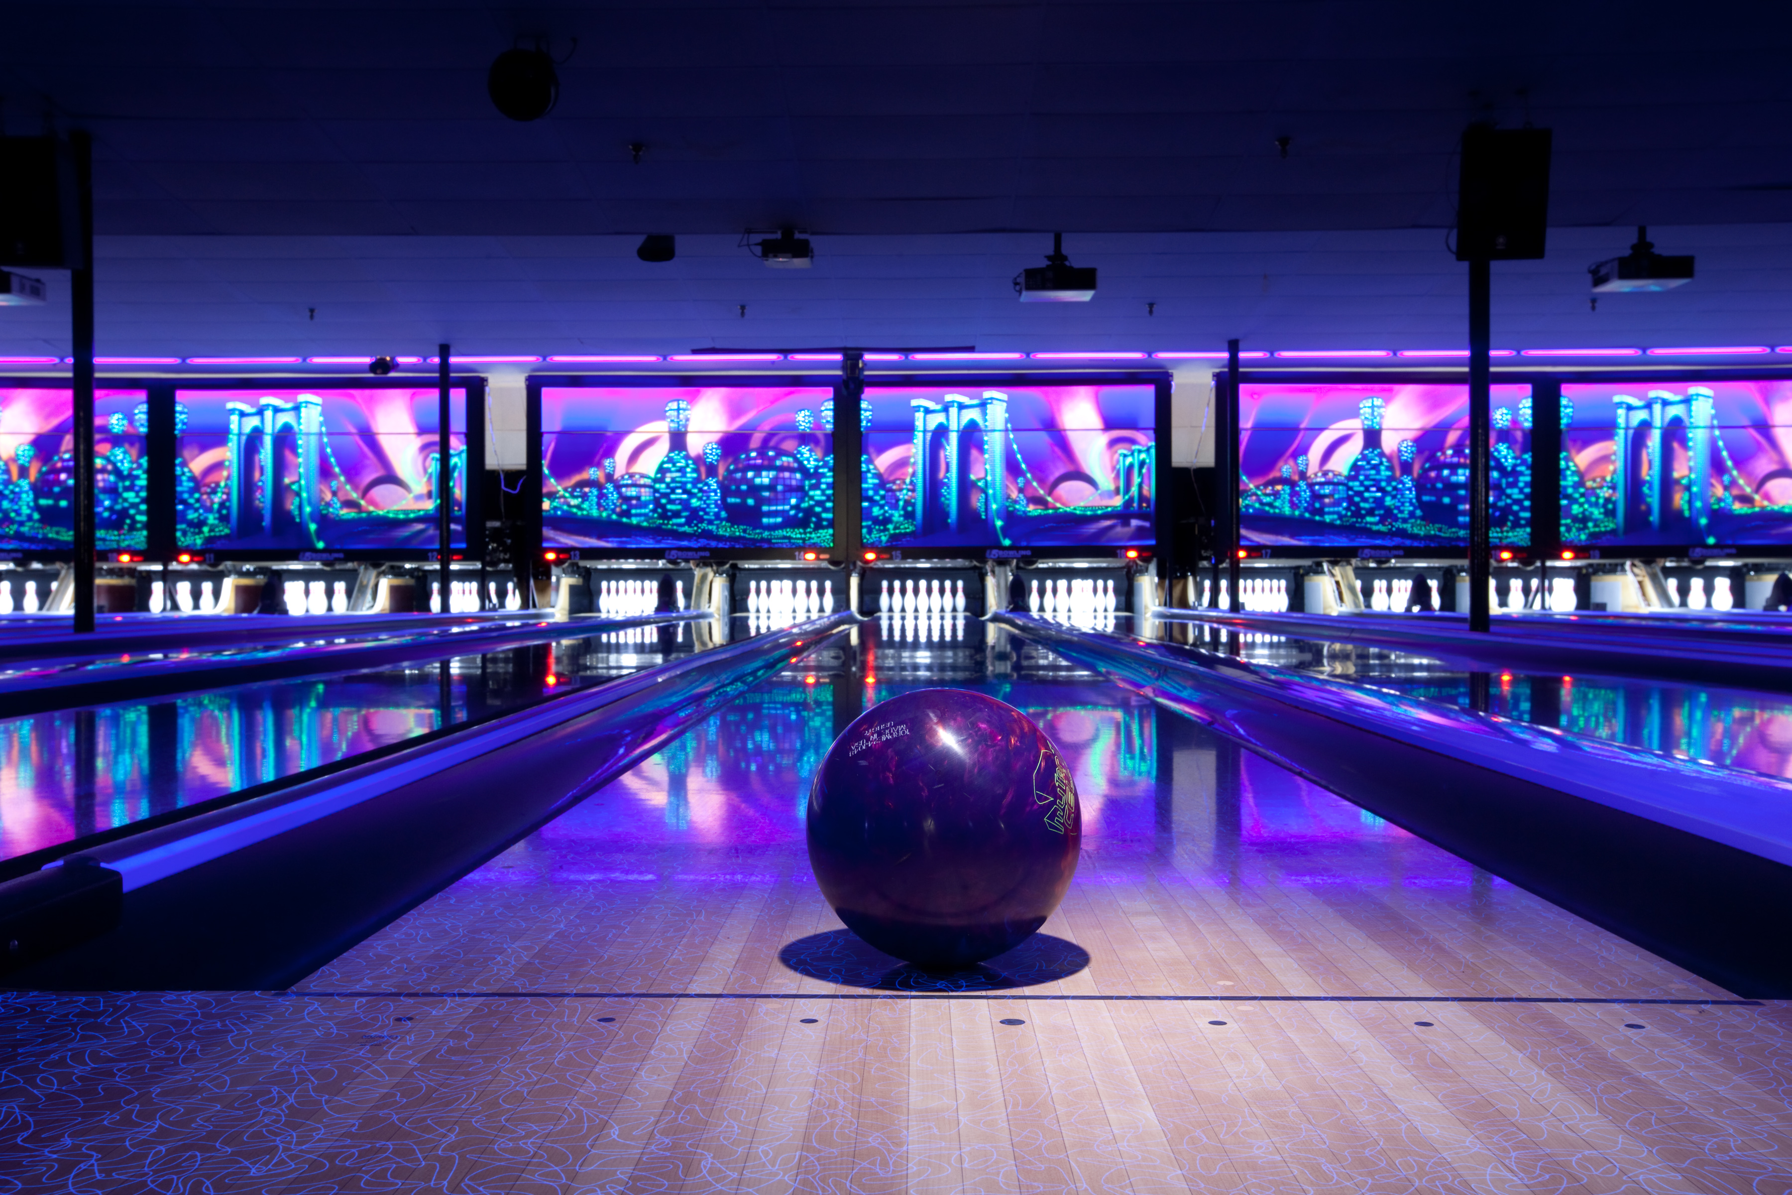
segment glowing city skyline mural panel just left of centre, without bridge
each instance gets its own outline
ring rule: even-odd
[[[543,543],[833,546],[831,387],[543,387]]]

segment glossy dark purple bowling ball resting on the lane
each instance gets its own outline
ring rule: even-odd
[[[833,740],[808,790],[808,862],[853,933],[928,969],[1032,937],[1070,889],[1082,813],[1032,718],[995,697],[892,697]]]

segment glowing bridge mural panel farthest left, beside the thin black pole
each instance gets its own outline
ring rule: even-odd
[[[466,426],[466,391],[450,398]],[[430,548],[437,391],[176,391],[174,521],[183,548]],[[453,543],[466,543],[466,441],[452,446]]]

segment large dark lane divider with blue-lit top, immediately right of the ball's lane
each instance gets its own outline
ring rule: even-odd
[[[1749,998],[1792,996],[1792,785],[1177,643],[991,622]]]

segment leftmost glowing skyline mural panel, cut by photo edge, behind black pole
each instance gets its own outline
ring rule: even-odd
[[[73,546],[73,391],[0,389],[0,548],[52,552]],[[143,391],[93,392],[100,548],[149,543],[147,430]]]

